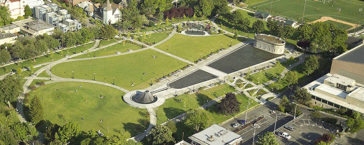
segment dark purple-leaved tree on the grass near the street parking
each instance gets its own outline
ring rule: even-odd
[[[221,99],[221,102],[216,105],[216,108],[219,110],[219,113],[223,113],[226,115],[230,115],[233,113],[237,113],[240,111],[240,105],[238,100],[236,99],[235,94],[227,93],[225,98]]]

